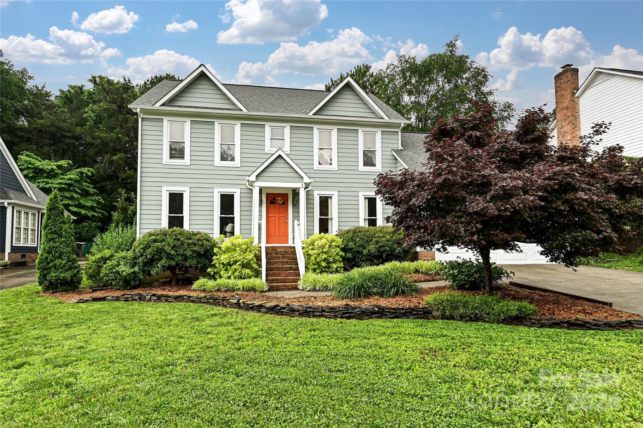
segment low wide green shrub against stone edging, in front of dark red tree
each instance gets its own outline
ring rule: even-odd
[[[430,294],[424,299],[424,304],[433,308],[435,316],[439,318],[469,321],[485,319],[492,323],[538,313],[538,309],[527,302],[503,300],[498,296],[472,296],[452,291]]]

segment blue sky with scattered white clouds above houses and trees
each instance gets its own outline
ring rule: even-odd
[[[642,1],[6,1],[0,48],[56,90],[89,74],[319,88],[361,62],[439,52],[457,33],[502,100],[553,107],[557,67],[643,69]]]

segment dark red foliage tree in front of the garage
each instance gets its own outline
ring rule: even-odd
[[[643,223],[643,160],[626,162],[622,147],[598,153],[607,125],[595,125],[577,147],[548,144],[550,115],[521,115],[516,129],[496,131],[494,111],[474,103],[471,114],[442,120],[426,138],[423,170],[380,174],[377,193],[394,208],[388,217],[406,244],[466,248],[485,268],[489,253],[543,247],[550,261],[577,266],[579,256],[619,253],[619,236]]]

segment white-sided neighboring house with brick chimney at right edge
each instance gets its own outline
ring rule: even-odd
[[[643,156],[643,71],[595,68],[579,87],[578,69],[571,64],[562,68],[554,76],[556,120],[550,125],[551,143],[577,142],[594,123],[605,121],[611,122],[610,130],[598,150],[620,144],[624,155]]]

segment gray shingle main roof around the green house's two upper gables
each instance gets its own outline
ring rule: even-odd
[[[163,80],[134,101],[132,105],[154,105],[168,92],[172,91],[180,80]],[[246,107],[249,112],[274,114],[308,114],[329,94],[329,91],[314,89],[294,89],[288,87],[253,86],[223,84],[230,93]],[[405,120],[401,114],[388,107],[373,94],[368,96],[382,109],[391,120]],[[173,105],[172,107],[181,107]]]

